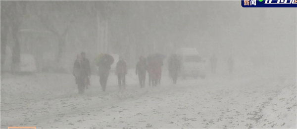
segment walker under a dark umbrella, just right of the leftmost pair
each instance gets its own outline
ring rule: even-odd
[[[98,64],[98,72],[99,72],[99,82],[102,87],[102,90],[105,91],[107,80],[109,76],[109,71],[111,69],[111,65],[114,62],[114,59],[109,54],[103,54],[102,58]]]

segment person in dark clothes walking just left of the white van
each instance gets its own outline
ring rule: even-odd
[[[172,54],[168,60],[168,72],[169,72],[169,76],[173,80],[173,84],[176,84],[178,72],[180,71],[180,67],[181,67],[181,62],[177,58],[177,55]]]

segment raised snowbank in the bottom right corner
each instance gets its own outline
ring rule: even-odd
[[[270,99],[271,101],[269,101],[261,110],[262,112],[257,115],[261,118],[258,121],[258,127],[266,129],[297,128],[296,84],[291,83],[286,85],[287,86],[285,86],[276,97]]]

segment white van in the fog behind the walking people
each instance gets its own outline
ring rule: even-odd
[[[205,60],[203,60],[196,48],[180,48],[176,51],[176,54],[181,60],[181,76],[192,76],[195,79],[200,77],[205,79]]]

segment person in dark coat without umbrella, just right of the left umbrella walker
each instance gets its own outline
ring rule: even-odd
[[[126,74],[127,74],[127,64],[122,57],[119,57],[119,61],[116,64],[115,74],[118,76],[118,84],[120,90],[126,88]]]

